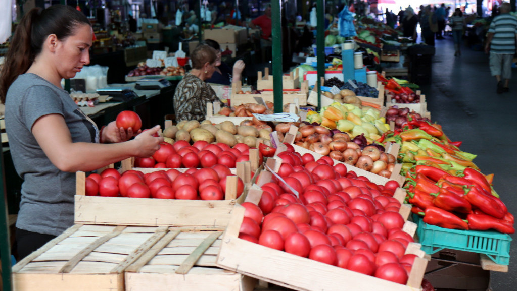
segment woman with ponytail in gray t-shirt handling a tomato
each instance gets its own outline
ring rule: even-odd
[[[152,136],[159,126],[133,133],[113,121],[99,131],[63,90],[61,80],[89,63],[92,39],[88,19],[73,7],[33,8],[18,25],[0,72],[9,148],[24,180],[19,259],[73,225],[76,171],[148,157],[163,141]]]

